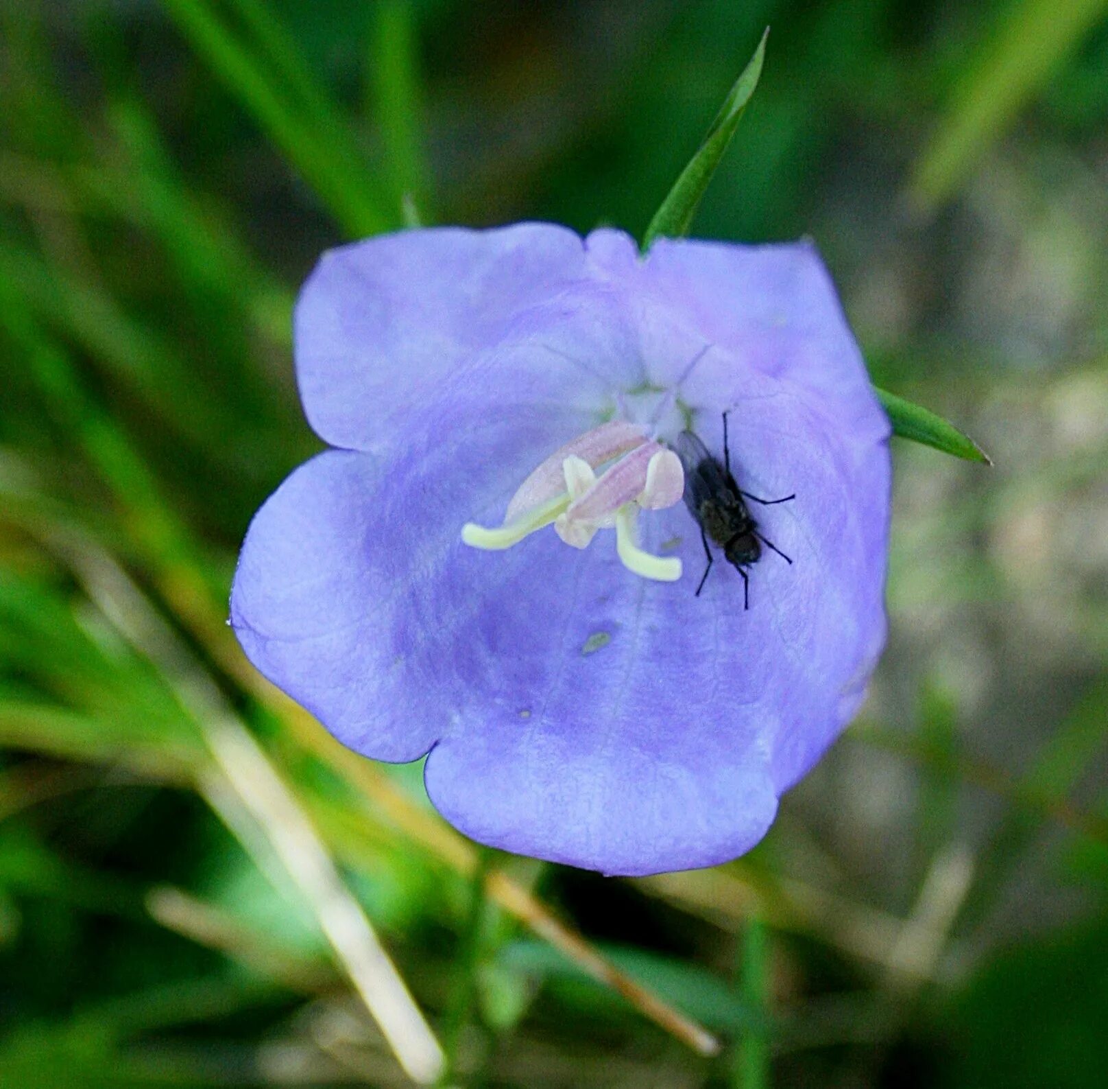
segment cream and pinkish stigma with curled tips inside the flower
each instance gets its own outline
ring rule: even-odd
[[[678,502],[685,472],[673,450],[635,424],[611,420],[555,450],[520,485],[495,528],[466,522],[462,541],[499,550],[547,526],[572,548],[587,548],[602,529],[614,529],[616,554],[629,571],[676,582],[681,561],[638,547],[638,516]]]

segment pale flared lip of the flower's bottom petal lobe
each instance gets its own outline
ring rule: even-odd
[[[777,813],[757,736],[722,708],[690,731],[684,715],[652,713],[650,699],[640,690],[615,721],[504,714],[453,734],[428,757],[428,794],[474,839],[606,874],[711,866],[749,851]]]

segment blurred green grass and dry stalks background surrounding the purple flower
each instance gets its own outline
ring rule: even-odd
[[[889,650],[751,855],[479,854],[225,627],[297,287],[640,234],[766,24],[694,233],[812,235],[995,468],[894,442]],[[1102,1085],[1106,262],[1102,0],[0,0],[0,1086]]]

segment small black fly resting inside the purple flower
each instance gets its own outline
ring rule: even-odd
[[[750,499],[762,506],[788,502],[796,495],[783,499],[759,499],[743,491],[731,476],[731,452],[727,446],[727,413],[724,413],[724,464],[719,458],[708,452],[708,448],[691,431],[681,431],[677,437],[677,455],[685,468],[685,505],[700,527],[700,540],[704,542],[704,554],[708,566],[704,577],[696,588],[696,597],[700,597],[704,583],[711,570],[712,554],[708,547],[710,537],[722,550],[727,562],[742,576],[742,608],[750,608],[750,581],[747,578],[747,567],[756,563],[761,556],[761,546],[771,548],[787,563],[792,560],[772,541],[767,540],[758,531],[758,522],[750,517],[750,511],[743,500]]]

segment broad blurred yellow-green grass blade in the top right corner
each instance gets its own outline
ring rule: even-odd
[[[954,194],[1106,11],[1106,0],[1009,4],[915,164],[909,195],[917,207],[933,210]]]

